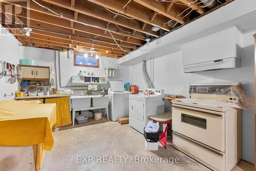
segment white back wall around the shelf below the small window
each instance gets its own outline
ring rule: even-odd
[[[58,59],[58,58],[57,58]],[[122,79],[124,82],[129,81],[129,67],[118,65],[118,59],[110,57],[100,57],[99,68],[91,67],[79,67],[74,66],[74,55],[71,55],[71,58],[67,57],[67,52],[60,52],[59,54],[59,66],[60,67],[60,81],[58,80],[58,88],[65,89],[65,87],[72,87],[71,77],[77,76],[80,70],[86,70],[89,72],[94,72],[96,77],[105,76],[105,68],[115,68],[115,76],[109,77],[108,79]],[[57,62],[58,63],[58,62]],[[59,72],[59,71],[57,71]],[[108,85],[105,85],[104,88],[107,90]]]

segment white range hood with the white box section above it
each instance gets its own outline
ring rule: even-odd
[[[230,28],[183,44],[184,73],[239,68],[242,48],[238,32]]]

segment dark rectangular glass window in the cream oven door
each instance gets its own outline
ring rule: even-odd
[[[181,114],[181,121],[193,126],[200,127],[201,129],[206,130],[206,119],[199,118],[196,116],[191,116],[187,114]]]

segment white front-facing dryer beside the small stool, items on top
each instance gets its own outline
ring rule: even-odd
[[[164,90],[147,90],[151,90],[154,94],[129,95],[129,125],[142,134],[147,122],[150,121],[148,116],[164,113]]]

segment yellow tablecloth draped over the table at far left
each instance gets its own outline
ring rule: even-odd
[[[35,167],[39,170],[44,149],[52,149],[52,127],[56,123],[56,104],[0,101],[0,146],[34,146]]]

